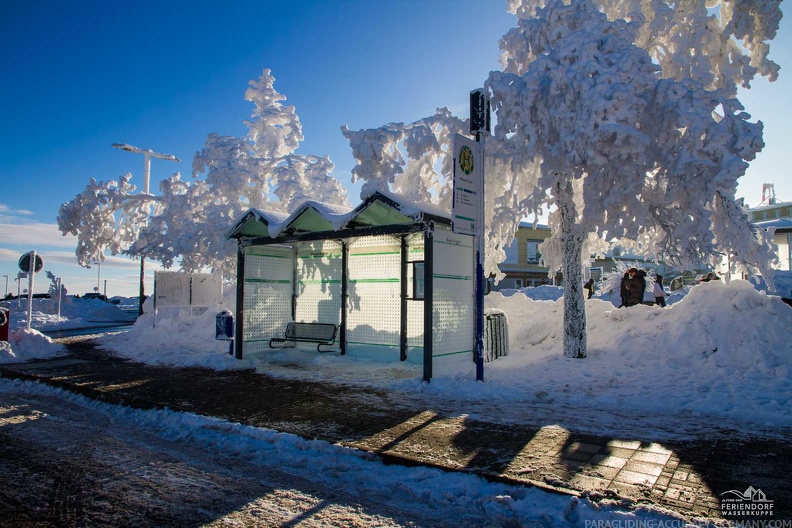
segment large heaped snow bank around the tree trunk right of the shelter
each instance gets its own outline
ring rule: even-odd
[[[563,356],[563,302],[486,304],[507,314],[510,345],[486,379],[510,397],[792,426],[792,308],[748,282],[704,283],[664,309],[591,299],[585,359]]]

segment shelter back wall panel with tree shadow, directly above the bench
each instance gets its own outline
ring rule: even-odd
[[[335,240],[298,247],[295,320],[341,324],[342,251],[341,243]]]

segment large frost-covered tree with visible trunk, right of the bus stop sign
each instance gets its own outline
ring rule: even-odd
[[[530,58],[524,72],[493,72],[486,83],[497,192],[514,195],[516,175],[531,191],[513,213],[555,207],[542,254],[564,275],[568,357],[586,355],[581,259],[591,234],[682,267],[715,266],[728,252],[767,271],[773,259],[733,206],[746,161],[764,146],[761,123],[726,90],[663,79],[635,45],[640,29],[589,0],[547,2],[520,21],[522,40],[508,41],[507,53]]]

